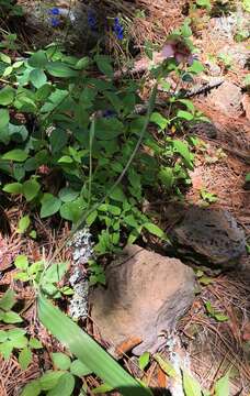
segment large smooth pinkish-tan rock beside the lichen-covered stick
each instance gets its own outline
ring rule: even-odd
[[[107,287],[90,297],[92,319],[115,346],[141,338],[135,354],[156,351],[163,342],[161,332],[172,330],[193,301],[193,270],[136,245],[127,246],[105,275]]]

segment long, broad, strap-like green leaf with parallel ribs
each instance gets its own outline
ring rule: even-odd
[[[118,365],[94,340],[81,330],[45,297],[38,296],[38,317],[42,323],[83,364],[104,382],[125,396],[151,396],[122,366]]]

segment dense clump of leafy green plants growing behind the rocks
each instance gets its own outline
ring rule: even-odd
[[[139,86],[132,80],[114,84],[107,56],[79,59],[55,45],[22,61],[2,55],[1,66],[7,85],[0,90],[0,169],[10,180],[2,190],[22,195],[30,208],[39,208],[41,218],[58,213],[73,224],[96,206],[87,224],[104,226],[96,244],[100,254],[116,250],[125,235],[134,242],[143,230],[166,238],[141,212],[141,201],[159,183],[180,194],[179,186],[190,183],[193,155],[185,142],[168,136],[160,142],[146,131],[148,116],[135,112]],[[94,67],[104,79],[91,76]],[[201,69],[194,61],[185,73]],[[158,78],[173,70],[180,78],[184,74],[174,59],[167,59]],[[171,100],[170,119],[151,116],[160,133],[162,122],[167,128],[196,117],[191,101],[174,96]],[[130,163],[140,134],[147,150]],[[113,188],[121,174],[123,183]]]

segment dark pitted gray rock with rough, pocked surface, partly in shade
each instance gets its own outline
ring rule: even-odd
[[[181,255],[224,268],[234,267],[246,252],[245,232],[226,210],[190,207],[170,232]]]

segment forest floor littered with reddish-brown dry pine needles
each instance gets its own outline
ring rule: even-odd
[[[24,2],[23,2],[24,3]],[[144,2],[139,1],[140,6]],[[173,22],[175,25],[183,22],[184,1],[152,1],[146,6],[149,12],[144,20],[148,26],[157,13],[162,22],[159,32],[148,33],[151,40],[162,42],[164,33],[169,32]],[[164,10],[161,10],[161,7]],[[157,10],[156,10],[157,9]],[[237,11],[220,16],[206,19],[205,11],[196,11],[192,15],[194,24],[194,45],[200,50],[200,61],[206,65],[206,70],[198,77],[197,85],[201,87],[213,78],[221,78],[224,81],[218,89],[211,89],[206,95],[193,95],[192,100],[197,109],[207,116],[215,124],[218,133],[216,139],[209,139],[206,134],[201,136],[203,144],[196,153],[195,167],[191,173],[192,186],[190,187],[185,201],[188,204],[204,204],[206,201],[213,208],[229,210],[239,226],[245,230],[248,245],[250,244],[250,197],[249,188],[246,188],[246,175],[250,172],[250,97],[245,85],[245,78],[249,75],[249,40],[235,40],[240,33],[241,25]],[[168,18],[166,16],[168,15]],[[249,15],[249,14],[248,14]],[[246,14],[245,16],[246,18]],[[168,20],[166,22],[166,19]],[[166,22],[166,24],[164,24]],[[246,20],[241,20],[246,24]],[[143,35],[144,33],[140,32]],[[157,35],[156,35],[157,34]],[[137,55],[141,62],[144,55]],[[236,90],[239,95],[235,101]],[[208,194],[208,198],[201,197],[201,190]],[[209,202],[212,195],[214,202]],[[208,202],[207,202],[208,201]],[[69,224],[61,222],[58,230],[50,227],[50,220],[41,221],[35,216],[36,231],[39,242],[25,239],[16,232],[18,219],[25,211],[23,202],[16,198],[15,205],[7,211],[8,218],[14,232],[10,238],[0,238],[0,287],[3,289],[12,285],[18,298],[24,301],[22,312],[25,318],[30,333],[37,332],[35,294],[29,286],[19,289],[13,280],[15,268],[13,260],[18,254],[25,254],[33,261],[46,256],[53,256],[58,241],[63,240],[69,232]],[[163,204],[162,204],[163,205]],[[159,206],[159,215],[162,215],[161,226],[168,229],[168,218],[164,218],[164,208]],[[60,253],[61,261],[70,258],[70,252],[65,249]],[[196,375],[201,384],[211,388],[215,380],[230,370],[231,395],[250,395],[250,271],[249,254],[242,257],[242,273],[231,272],[228,274],[202,274],[200,293],[185,315],[179,322],[177,334],[181,340],[180,350],[189,356],[192,373]],[[202,277],[201,276],[201,277]],[[216,321],[215,318],[205,314],[204,301],[212,301],[218,310],[226,312],[227,321]],[[88,319],[87,329],[92,331],[91,318]],[[55,348],[63,351],[52,337],[39,328],[39,340],[46,345],[42,355],[34,355],[33,364],[21,371],[15,356],[9,361],[0,361],[0,395],[14,396],[16,388],[22,387],[29,381],[36,378],[43,369],[50,367],[49,352]],[[100,340],[98,340],[100,341]],[[183,348],[183,345],[185,345]],[[124,352],[127,352],[125,349]],[[182,353],[180,352],[180,353]],[[124,354],[122,359],[125,367],[136,375],[130,359]],[[137,373],[138,374],[138,373]],[[168,385],[166,374],[155,363],[150,364],[145,372],[148,384],[159,387]],[[98,386],[95,377],[89,376],[87,384],[90,388]],[[89,393],[92,394],[91,391]]]

